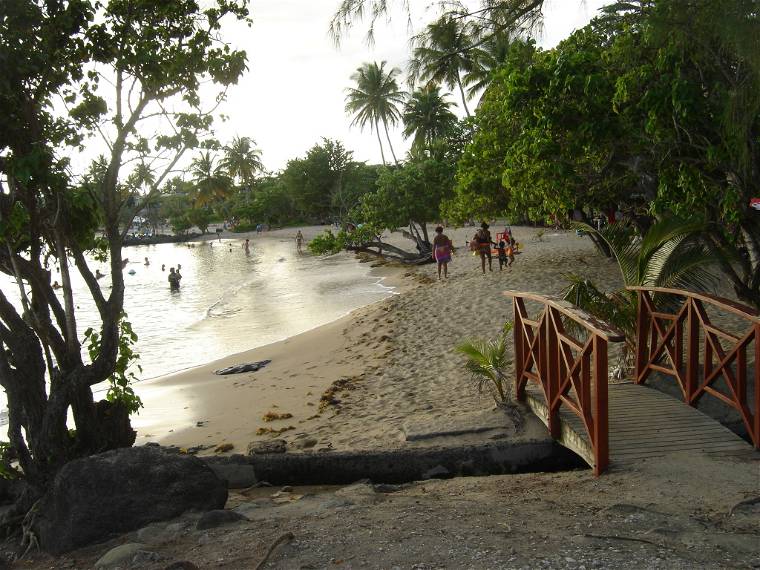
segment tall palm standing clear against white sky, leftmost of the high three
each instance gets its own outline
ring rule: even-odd
[[[346,112],[354,115],[351,126],[358,125],[363,129],[369,124],[370,129],[377,132],[380,156],[383,159],[383,164],[385,164],[383,142],[380,138],[380,124],[382,123],[393,161],[398,164],[396,153],[393,152],[393,145],[391,145],[391,139],[388,136],[388,124],[395,125],[401,118],[399,106],[404,103],[404,92],[399,90],[396,81],[396,76],[401,73],[401,70],[393,67],[386,73],[385,64],[385,61],[381,62],[380,65],[377,62],[364,63],[351,76],[351,80],[356,82],[356,87],[350,87],[347,90]]]

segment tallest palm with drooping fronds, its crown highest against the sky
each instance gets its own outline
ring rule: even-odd
[[[415,40],[412,60],[409,62],[409,80],[446,85],[449,89],[458,88],[462,96],[462,105],[467,116],[467,96],[462,84],[462,73],[469,73],[475,68],[472,54],[472,39],[465,23],[451,15],[444,15],[438,21],[429,24],[425,31]]]

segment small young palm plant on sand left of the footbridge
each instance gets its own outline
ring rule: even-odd
[[[465,369],[477,383],[478,391],[487,390],[497,405],[514,400],[514,386],[507,370],[512,364],[508,340],[513,328],[514,323],[507,321],[495,339],[468,340],[456,347],[456,351],[467,358]]]

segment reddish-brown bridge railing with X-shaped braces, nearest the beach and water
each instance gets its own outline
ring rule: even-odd
[[[583,423],[593,453],[594,474],[609,465],[608,343],[625,340],[623,333],[557,297],[505,291],[514,309],[515,389],[525,399],[529,382],[541,388],[549,432],[561,435],[560,408]],[[531,318],[525,302],[541,305]],[[585,340],[566,330],[567,321]]]

